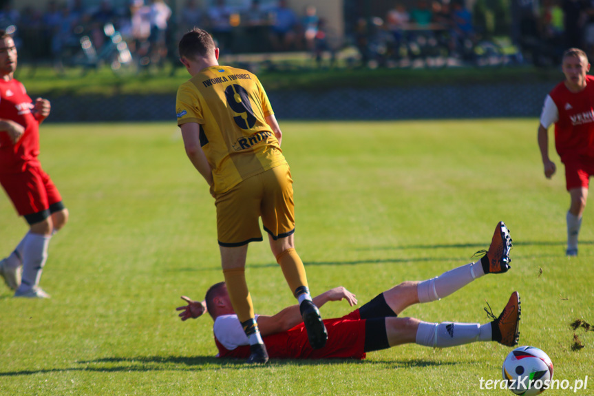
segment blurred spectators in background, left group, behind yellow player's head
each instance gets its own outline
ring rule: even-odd
[[[248,0],[240,6],[237,1],[233,6],[225,0],[205,2],[185,0],[174,14],[167,0],[131,0],[119,8],[110,0],[94,8],[81,0],[48,0],[45,10],[17,10],[7,1],[0,10],[0,27],[12,26],[22,59],[52,59],[59,67],[88,50],[85,45],[98,54],[107,46],[117,48],[114,32],[134,59],[162,65],[167,56],[177,56],[178,39],[194,26],[211,32],[224,54],[326,49],[325,21],[315,6],[299,15],[286,0]]]

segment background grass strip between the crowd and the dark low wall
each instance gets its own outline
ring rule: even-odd
[[[307,60],[301,62],[308,63]],[[222,59],[221,64],[227,63]],[[242,65],[239,65],[243,67]],[[436,70],[434,68],[377,69],[367,68],[315,70],[310,67],[283,66],[276,71],[254,70],[267,91],[312,90],[345,88],[416,87],[434,85],[470,85],[500,83],[558,83],[562,74],[558,69],[536,67],[460,67]],[[288,67],[288,69],[287,69]],[[152,70],[139,75],[118,76],[107,67],[83,74],[82,70],[67,69],[57,74],[48,67],[33,69],[23,65],[17,70],[17,79],[27,86],[32,95],[116,95],[116,94],[176,94],[178,86],[189,79],[182,67],[171,74],[169,65],[162,71]]]

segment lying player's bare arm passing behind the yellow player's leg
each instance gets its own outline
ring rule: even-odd
[[[319,308],[328,301],[341,301],[346,298],[350,306],[357,304],[355,295],[343,286],[328,290],[313,298],[313,303]],[[303,322],[299,305],[288,306],[274,316],[258,316],[258,328],[263,336],[287,331]]]

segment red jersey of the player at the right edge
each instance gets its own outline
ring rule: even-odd
[[[559,83],[549,96],[558,111],[555,148],[562,162],[575,156],[594,158],[594,76],[586,76],[581,92],[571,92]]]

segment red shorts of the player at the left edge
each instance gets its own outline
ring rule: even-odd
[[[52,179],[41,167],[27,166],[18,174],[0,174],[0,184],[20,216],[41,213],[44,220],[50,214],[50,206],[62,201]]]

